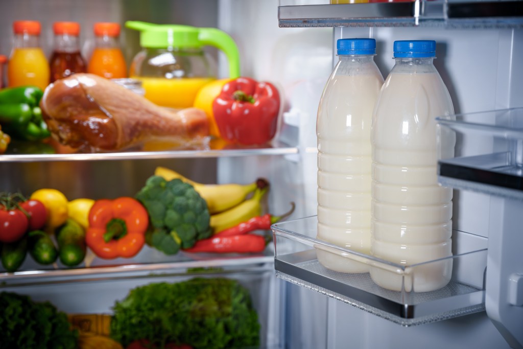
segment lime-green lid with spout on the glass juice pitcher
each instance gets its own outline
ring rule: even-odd
[[[201,47],[199,28],[177,24],[127,21],[126,27],[140,31],[140,46],[146,48]]]

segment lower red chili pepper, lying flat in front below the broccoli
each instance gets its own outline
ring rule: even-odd
[[[185,252],[249,253],[265,250],[267,240],[261,235],[245,234],[234,237],[213,237],[196,242]]]

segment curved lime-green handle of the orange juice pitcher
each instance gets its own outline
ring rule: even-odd
[[[198,40],[202,44],[222,50],[229,61],[229,77],[240,76],[240,53],[233,38],[228,33],[216,28],[200,28]]]

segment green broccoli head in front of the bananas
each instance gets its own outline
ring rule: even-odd
[[[136,198],[149,212],[147,243],[165,254],[192,247],[212,234],[207,203],[189,183],[152,176]]]

